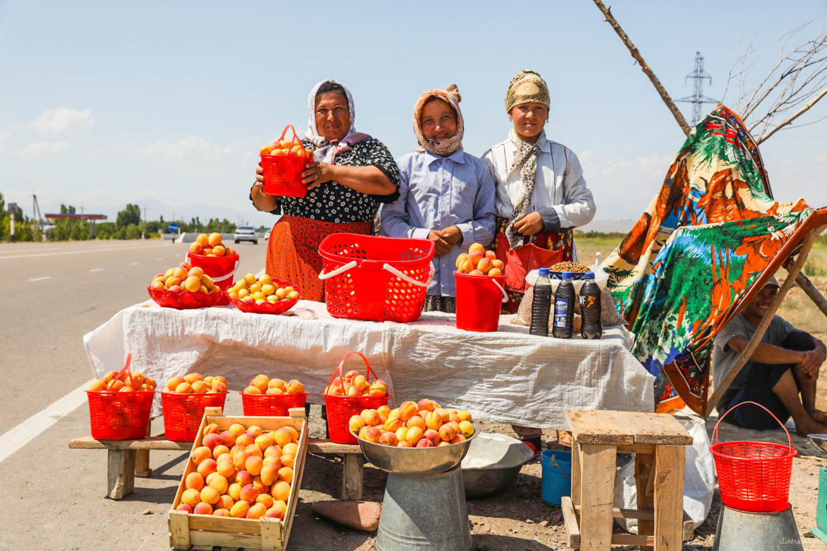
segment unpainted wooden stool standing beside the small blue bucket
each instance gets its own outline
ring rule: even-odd
[[[678,551],[692,538],[683,511],[683,468],[692,437],[671,415],[566,411],[571,435],[571,497],[562,498],[571,549],[612,544]],[[638,509],[614,507],[615,458],[635,454]],[[612,534],[613,517],[638,519],[638,535]]]

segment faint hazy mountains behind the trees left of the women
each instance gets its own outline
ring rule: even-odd
[[[164,216],[165,221],[179,220],[189,221],[191,218],[198,216],[200,221],[207,223],[210,218],[218,218],[234,222],[237,225],[251,224],[252,226],[272,226],[275,223],[275,216],[267,212],[256,211],[252,205],[250,210],[241,211],[229,207],[209,207],[207,205],[187,205],[185,207],[172,207],[169,204],[159,201],[153,197],[144,197],[133,204],[141,207],[141,216],[144,216],[144,208],[146,207],[146,219],[158,220],[160,216]],[[64,203],[65,204],[65,203]],[[108,221],[117,220],[117,213],[122,211],[126,204],[123,205],[98,205],[84,204],[84,212],[87,214],[104,214],[108,216]],[[80,209],[79,205],[74,205],[75,209]],[[60,212],[60,202],[43,202],[41,203],[41,211],[46,212]],[[174,218],[173,218],[174,216]]]

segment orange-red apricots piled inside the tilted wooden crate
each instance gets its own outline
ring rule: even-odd
[[[199,445],[189,454],[174,510],[190,515],[284,520],[298,491],[293,489],[294,468],[300,480],[306,437],[295,426],[275,428],[275,424],[295,422],[302,428],[304,421],[261,420],[261,425],[273,425],[274,430],[241,423],[227,426],[221,418],[218,421],[224,429],[215,422],[205,425],[196,442]]]

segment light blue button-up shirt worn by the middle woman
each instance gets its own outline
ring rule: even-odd
[[[472,243],[488,247],[495,235],[495,184],[490,164],[463,150],[447,157],[409,153],[399,165],[399,199],[382,206],[381,233],[428,239],[431,230],[457,226],[462,240],[448,254],[434,257],[436,272],[428,295],[454,297],[457,256]]]

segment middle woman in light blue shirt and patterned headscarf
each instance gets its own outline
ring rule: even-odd
[[[452,84],[428,90],[414,105],[419,147],[396,160],[399,200],[382,207],[381,231],[432,240],[435,273],[425,311],[456,311],[457,256],[495,235],[495,183],[490,164],[462,150],[460,93]]]

